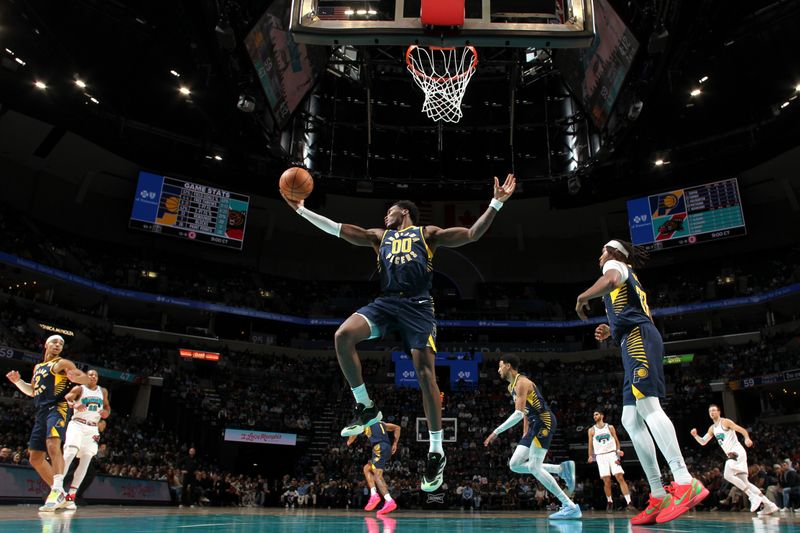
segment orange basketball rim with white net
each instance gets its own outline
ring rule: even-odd
[[[428,118],[445,122],[461,120],[461,99],[478,66],[475,47],[411,45],[406,51],[406,65],[425,93],[422,111]]]

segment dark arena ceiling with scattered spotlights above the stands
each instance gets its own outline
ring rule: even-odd
[[[145,168],[267,195],[305,157],[318,191],[484,198],[514,169],[521,194],[572,206],[735,175],[797,144],[800,2],[611,4],[640,48],[604,130],[579,108],[554,111],[570,92],[547,55],[485,49],[465,118],[440,131],[391,47],[325,70],[314,105],[278,128],[242,44],[267,0],[9,0],[0,100],[53,124],[51,144],[72,130]],[[237,108],[242,95],[254,112]],[[586,153],[570,165],[574,124]]]

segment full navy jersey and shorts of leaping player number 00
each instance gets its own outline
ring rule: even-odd
[[[381,296],[356,311],[367,319],[370,339],[396,329],[407,353],[426,347],[436,351],[436,319],[430,295],[432,260],[422,227],[383,233],[378,248]]]

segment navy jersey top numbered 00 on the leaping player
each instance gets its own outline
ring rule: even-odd
[[[386,230],[378,249],[381,292],[397,296],[427,296],[433,278],[433,252],[422,228]]]

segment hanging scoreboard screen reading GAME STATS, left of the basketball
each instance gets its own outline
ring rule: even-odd
[[[242,249],[250,197],[139,172],[130,227]]]

